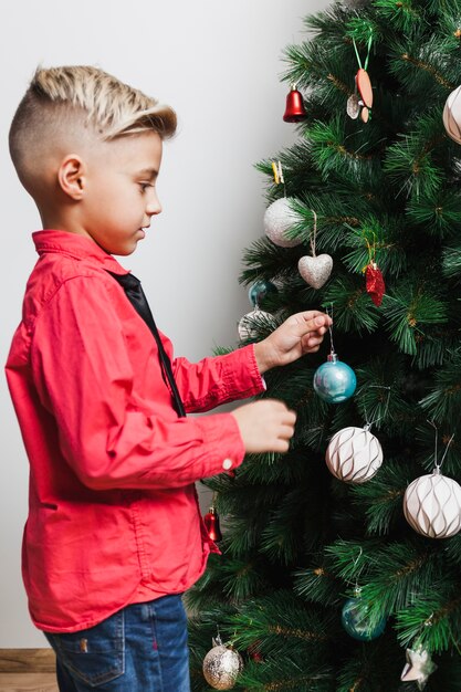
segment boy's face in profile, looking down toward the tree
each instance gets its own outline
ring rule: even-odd
[[[98,143],[86,158],[80,206],[83,233],[111,254],[136,250],[150,217],[160,213],[156,180],[163,143],[157,133]]]

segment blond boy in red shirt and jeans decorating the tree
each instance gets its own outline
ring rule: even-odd
[[[22,570],[65,692],[189,690],[180,597],[217,551],[193,483],[245,452],[286,451],[295,415],[269,399],[197,419],[182,407],[262,391],[261,375],[317,350],[331,323],[301,313],[256,345],[171,363],[113,255],[134,252],[161,211],[175,128],[171,108],[74,66],[38,70],[10,130],[46,229],[7,363],[31,468]]]

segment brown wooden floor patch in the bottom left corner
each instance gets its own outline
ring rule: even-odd
[[[57,692],[51,649],[0,649],[0,692]]]

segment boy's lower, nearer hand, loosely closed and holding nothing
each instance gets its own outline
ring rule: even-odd
[[[296,413],[283,401],[263,399],[232,411],[247,452],[287,452]]]

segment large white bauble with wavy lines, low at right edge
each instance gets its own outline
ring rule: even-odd
[[[417,533],[449,538],[461,528],[461,486],[436,469],[416,479],[405,491],[404,514]]]

